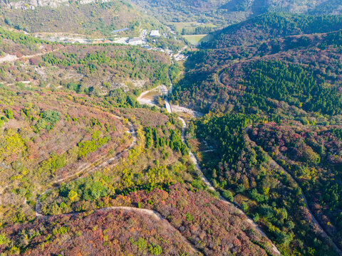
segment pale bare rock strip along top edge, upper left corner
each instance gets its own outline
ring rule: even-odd
[[[38,6],[48,6],[51,8],[56,8],[62,4],[68,5],[70,0],[19,0],[19,1],[9,1],[3,0],[2,4],[11,9],[36,9]],[[105,3],[110,0],[81,0],[80,4],[90,4],[94,2]]]

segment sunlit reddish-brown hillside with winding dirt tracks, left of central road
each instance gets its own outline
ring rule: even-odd
[[[170,58],[1,30],[1,255],[274,255],[202,182],[176,114],[139,105]]]

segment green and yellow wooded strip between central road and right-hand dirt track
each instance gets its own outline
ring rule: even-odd
[[[301,188],[245,137],[247,127],[261,121],[254,115],[226,114],[191,124],[190,130],[216,149],[203,156],[204,171],[223,196],[265,227],[284,255],[334,255],[309,225]]]

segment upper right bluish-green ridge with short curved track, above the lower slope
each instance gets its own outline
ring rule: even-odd
[[[174,100],[222,112],[241,107],[269,112],[269,102],[276,100],[338,114],[341,32],[331,31],[342,28],[341,21],[341,16],[265,14],[230,26],[192,53]],[[336,96],[323,97],[326,93]]]

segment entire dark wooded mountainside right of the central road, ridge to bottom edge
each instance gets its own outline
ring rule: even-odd
[[[341,247],[341,16],[264,14],[190,52],[172,102],[204,173],[284,255]],[[212,149],[200,151],[200,146]]]

